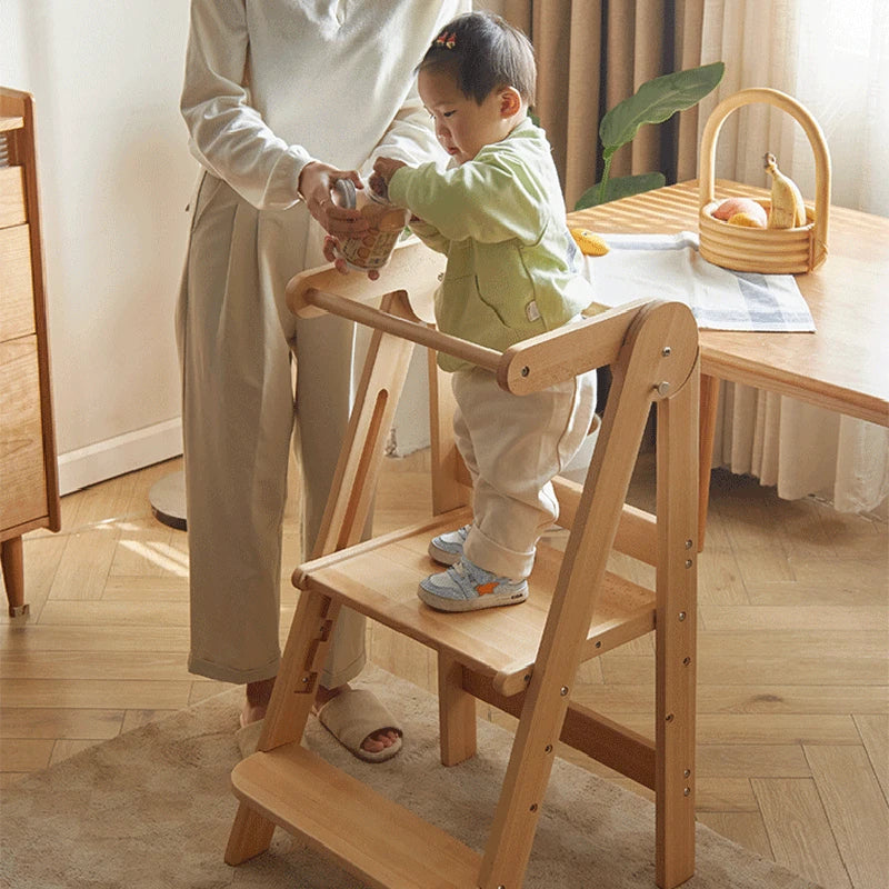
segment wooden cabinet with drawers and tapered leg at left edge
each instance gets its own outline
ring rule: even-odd
[[[0,87],[0,555],[22,617],[21,536],[60,528],[33,98]]]

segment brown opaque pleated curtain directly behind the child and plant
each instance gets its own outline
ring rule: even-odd
[[[503,0],[502,12],[535,44],[535,110],[571,208],[601,172],[601,116],[647,80],[701,63],[703,0]],[[678,121],[643,127],[615,156],[611,173],[691,179],[697,146],[691,109]]]

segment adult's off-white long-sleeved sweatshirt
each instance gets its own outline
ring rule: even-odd
[[[200,163],[259,209],[320,160],[439,152],[413,70],[469,0],[192,0],[181,110]],[[407,48],[407,51],[401,51]],[[443,157],[443,154],[442,154]]]

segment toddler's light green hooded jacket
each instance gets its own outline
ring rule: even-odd
[[[460,167],[402,167],[389,200],[419,217],[413,231],[448,257],[436,293],[442,332],[502,351],[592,302],[550,144],[530,118]],[[438,362],[448,371],[467,367],[444,353]]]

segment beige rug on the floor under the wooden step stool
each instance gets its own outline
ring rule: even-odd
[[[312,720],[307,742],[399,801],[480,848],[510,736],[479,723],[479,755],[438,761],[434,699],[376,668],[364,673],[403,717],[404,749],[359,762]],[[362,683],[359,683],[362,685]],[[240,693],[227,691],[131,731],[6,789],[0,799],[0,886],[14,889],[360,889],[361,883],[278,830],[269,852],[222,861],[236,802],[229,771]],[[651,889],[653,808],[557,761],[526,889]],[[698,827],[688,889],[813,889],[775,863]]]

